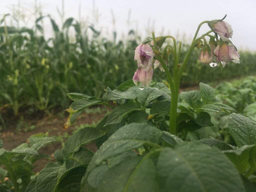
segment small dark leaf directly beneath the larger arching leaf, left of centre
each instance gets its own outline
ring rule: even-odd
[[[81,147],[79,151],[73,153],[65,160],[66,169],[70,169],[79,165],[89,164],[94,153],[87,148]]]

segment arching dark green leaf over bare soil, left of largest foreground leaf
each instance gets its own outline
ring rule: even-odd
[[[81,129],[75,134],[71,135],[65,142],[63,154],[66,157],[69,157],[70,153],[79,151],[81,145],[90,143],[91,141],[94,141],[105,134],[106,132],[100,131],[92,127],[86,127],[84,129]]]

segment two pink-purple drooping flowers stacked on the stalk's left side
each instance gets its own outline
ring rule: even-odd
[[[152,63],[154,52],[149,44],[140,44],[135,49],[134,60],[137,61],[138,69],[133,76],[133,82],[140,87],[149,86],[153,76]]]

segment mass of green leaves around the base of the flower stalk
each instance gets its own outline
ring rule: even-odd
[[[167,132],[170,91],[163,83],[140,90],[128,81],[106,89],[101,103],[114,101],[113,111],[95,128],[70,136],[54,153],[57,162],[47,164],[25,191],[255,190],[256,123],[232,113],[234,145],[209,136],[192,140],[187,133],[212,126],[213,113],[235,110],[204,83],[200,91],[179,96],[176,136]],[[90,98],[74,100],[70,109],[83,110],[77,104]],[[95,154],[86,148],[90,142],[98,147]]]

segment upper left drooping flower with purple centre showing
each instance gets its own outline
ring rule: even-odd
[[[139,68],[148,71],[152,66],[154,53],[149,44],[140,44],[135,49],[134,60],[137,61]]]

